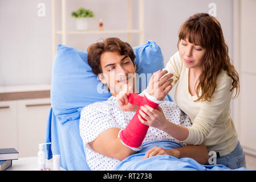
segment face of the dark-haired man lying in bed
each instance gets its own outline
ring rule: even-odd
[[[136,65],[133,65],[129,56],[118,52],[104,52],[100,56],[100,65],[103,72],[99,75],[100,81],[107,84],[113,96],[116,96],[124,85],[132,86],[135,92]]]

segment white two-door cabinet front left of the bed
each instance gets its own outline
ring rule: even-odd
[[[16,148],[19,158],[36,156],[50,107],[50,98],[0,101],[0,148]]]

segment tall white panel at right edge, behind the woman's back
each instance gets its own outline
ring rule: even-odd
[[[235,60],[239,68],[241,92],[234,101],[235,126],[243,150],[256,156],[256,1],[236,1],[236,5]]]

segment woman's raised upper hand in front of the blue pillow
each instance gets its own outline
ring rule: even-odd
[[[173,79],[171,79],[173,74],[169,73],[166,75],[166,73],[168,73],[166,70],[153,73],[147,87],[149,95],[154,96],[159,101],[164,100],[170,89],[172,89],[172,85],[170,84],[173,82]]]

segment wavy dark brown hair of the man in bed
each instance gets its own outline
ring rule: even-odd
[[[121,41],[119,38],[107,38],[103,42],[97,42],[88,47],[88,64],[92,68],[95,75],[102,73],[100,65],[100,56],[104,52],[118,52],[120,55],[129,56],[135,65],[135,54],[132,47],[127,42]]]

